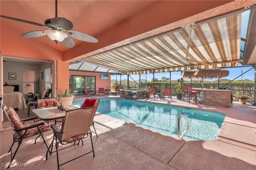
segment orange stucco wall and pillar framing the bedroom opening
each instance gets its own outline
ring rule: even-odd
[[[6,26],[1,25],[0,28],[2,56],[51,62],[54,62],[56,58],[58,61],[57,89],[68,88],[69,62],[63,61],[63,52],[36,41],[36,38],[21,38],[20,32]],[[50,41],[49,43],[54,42]]]

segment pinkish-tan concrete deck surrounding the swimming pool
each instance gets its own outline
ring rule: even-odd
[[[76,97],[76,101],[84,99],[85,97],[82,96]],[[94,122],[98,138],[93,135],[95,157],[88,154],[61,166],[60,169],[254,170],[256,168],[256,107],[239,104],[232,104],[231,108],[212,107],[180,101],[175,97],[172,100],[165,99],[154,100],[154,97],[150,97],[149,100],[141,100],[226,114],[218,139],[186,141],[97,113]],[[1,132],[1,163],[10,161],[10,154],[6,153],[12,142],[12,134],[12,130]],[[49,139],[47,142],[50,142],[52,132],[47,132],[45,135]],[[29,162],[29,169],[56,169],[56,154],[45,160],[45,146],[42,142],[36,145],[30,144],[33,142],[34,140],[30,138],[22,144],[16,161]],[[84,143],[86,145],[87,140],[84,140]],[[32,147],[36,151],[28,152],[27,149]],[[86,147],[80,150],[86,150]],[[24,152],[26,154],[22,154]],[[68,155],[76,152],[78,151],[75,149],[74,152],[70,150]]]

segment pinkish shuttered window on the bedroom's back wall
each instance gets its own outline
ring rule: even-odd
[[[35,72],[31,70],[22,71],[23,94],[35,93]]]

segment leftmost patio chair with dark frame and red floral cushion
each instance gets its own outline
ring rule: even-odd
[[[36,135],[38,135],[38,137],[41,136],[44,141],[44,144],[46,145],[46,148],[48,149],[48,145],[44,139],[43,132],[50,130],[49,125],[47,125],[44,121],[36,122],[37,117],[20,120],[20,118],[19,118],[18,114],[15,112],[15,110],[12,107],[7,108],[6,105],[3,105],[3,111],[4,111],[4,115],[6,116],[6,118],[8,119],[10,125],[12,126],[12,128],[14,130],[12,146],[10,147],[10,149],[8,151],[8,153],[11,152],[11,161],[8,165],[8,168],[10,168],[10,164],[12,164],[12,160],[14,160],[14,157],[15,157],[18,149],[20,148],[20,145],[22,144],[23,139],[25,139],[25,138],[29,138],[29,137],[36,136]],[[26,121],[34,121],[34,124],[26,127],[24,125],[24,123]],[[36,139],[35,139],[34,144],[36,144]],[[18,146],[12,156],[12,147],[15,142],[18,142]]]

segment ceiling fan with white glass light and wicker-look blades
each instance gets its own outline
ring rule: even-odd
[[[32,24],[36,26],[42,26],[44,28],[48,28],[49,30],[42,30],[42,31],[32,31],[26,34],[23,34],[21,37],[23,38],[34,38],[47,35],[51,40],[54,42],[62,43],[66,47],[72,48],[75,46],[74,39],[84,41],[84,42],[92,42],[96,43],[98,40],[88,34],[85,34],[80,31],[72,30],[73,24],[71,21],[67,20],[66,18],[57,17],[57,0],[55,1],[55,18],[45,20],[44,24],[39,24],[36,22],[31,22],[27,20],[21,20],[18,18],[12,18],[8,16],[2,16],[2,18],[7,18],[10,20],[15,20],[19,22],[24,22],[27,24]]]

